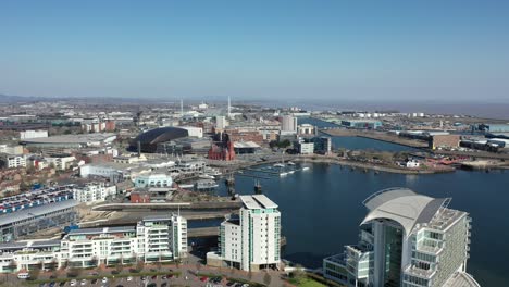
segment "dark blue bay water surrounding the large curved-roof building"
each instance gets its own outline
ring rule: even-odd
[[[284,258],[310,267],[358,241],[359,224],[367,214],[362,201],[388,187],[408,187],[431,197],[451,197],[452,209],[472,216],[471,258],[468,270],[483,286],[509,282],[509,172],[465,172],[400,175],[351,171],[334,164],[313,164],[309,171],[262,180],[263,192],[280,205]],[[226,190],[222,183],[220,194]],[[253,179],[236,177],[238,194],[252,194]]]

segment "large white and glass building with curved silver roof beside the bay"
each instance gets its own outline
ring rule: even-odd
[[[324,276],[346,286],[479,287],[467,273],[471,220],[449,202],[407,188],[370,196],[359,244],[324,259]]]

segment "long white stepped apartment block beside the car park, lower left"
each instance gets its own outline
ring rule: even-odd
[[[187,222],[167,215],[146,217],[137,226],[75,229],[61,240],[0,244],[0,272],[165,262],[186,254]]]

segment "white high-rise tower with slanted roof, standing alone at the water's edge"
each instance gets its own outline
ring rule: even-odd
[[[240,196],[238,216],[221,224],[219,252],[209,252],[207,263],[259,271],[281,262],[281,213],[264,195]]]

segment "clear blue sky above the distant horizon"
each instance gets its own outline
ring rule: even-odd
[[[509,101],[502,0],[0,1],[0,93]]]

